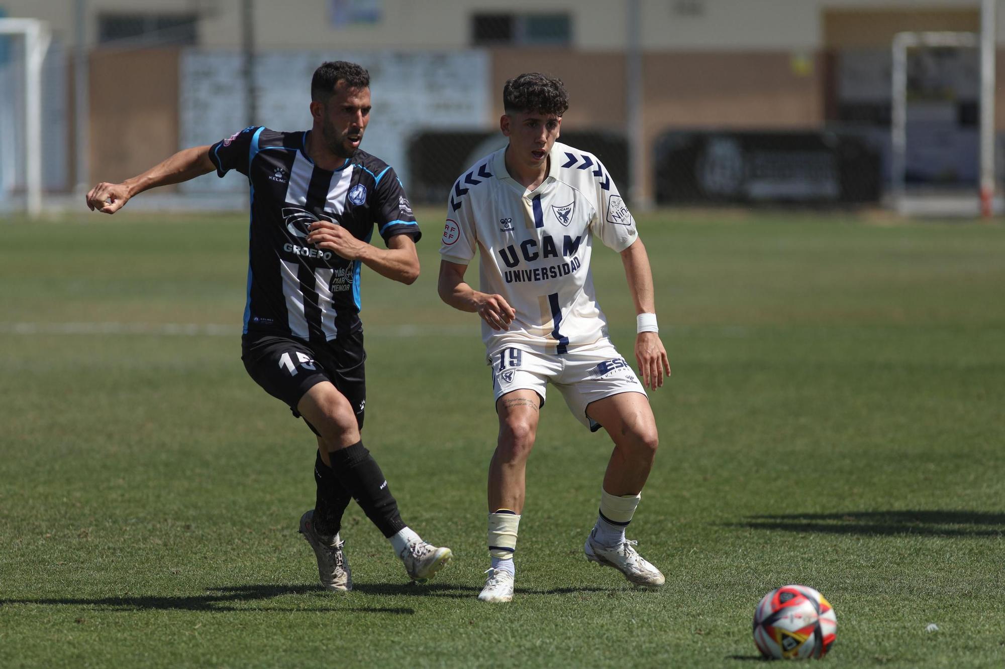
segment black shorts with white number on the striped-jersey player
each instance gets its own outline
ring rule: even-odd
[[[285,402],[294,417],[300,417],[296,411],[300,398],[329,381],[353,406],[361,430],[367,405],[366,359],[363,328],[325,344],[260,332],[241,338],[241,361],[248,375],[266,393]]]

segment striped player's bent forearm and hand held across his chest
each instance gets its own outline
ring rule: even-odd
[[[395,281],[411,284],[419,277],[419,254],[409,235],[394,235],[383,249],[357,239],[352,232],[332,221],[316,221],[311,224],[308,241],[318,248],[335,251],[347,260],[360,260],[381,276]]]

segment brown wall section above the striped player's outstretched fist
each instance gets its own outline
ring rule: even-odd
[[[178,49],[91,54],[92,181],[128,179],[178,151]]]

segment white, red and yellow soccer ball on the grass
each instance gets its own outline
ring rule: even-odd
[[[754,611],[754,643],[767,658],[822,658],[837,635],[837,618],[823,596],[806,586],[771,591]]]

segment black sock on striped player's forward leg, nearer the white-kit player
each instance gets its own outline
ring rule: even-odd
[[[328,457],[339,482],[352,493],[356,503],[384,536],[392,536],[406,527],[387,479],[362,441],[332,451]]]

